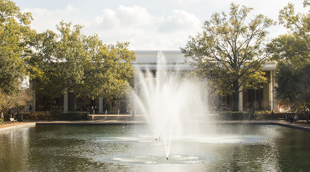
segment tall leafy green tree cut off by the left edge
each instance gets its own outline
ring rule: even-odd
[[[21,13],[10,0],[0,0],[0,118],[15,107],[26,76],[23,57],[29,48],[29,37],[35,31],[29,26],[31,14]]]

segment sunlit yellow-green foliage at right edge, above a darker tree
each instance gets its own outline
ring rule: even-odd
[[[307,6],[304,2],[304,7]],[[290,62],[309,62],[310,59],[310,14],[295,14],[294,5],[288,3],[279,12],[279,24],[288,29],[288,33],[279,35],[267,45],[272,60]]]

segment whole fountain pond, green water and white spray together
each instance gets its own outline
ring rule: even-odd
[[[141,71],[137,78],[137,113],[145,114],[150,127],[33,125],[2,131],[0,171],[309,171],[308,163],[292,162],[310,161],[310,132],[208,123],[206,82],[178,68],[170,71],[162,53],[158,59],[155,79]]]

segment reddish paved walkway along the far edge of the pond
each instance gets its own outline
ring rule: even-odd
[[[309,124],[301,123],[290,123],[284,120],[280,121],[214,121],[210,123],[219,124],[232,124],[232,125],[280,125],[284,127],[296,128],[305,131],[310,131]],[[0,132],[7,131],[15,128],[26,127],[31,125],[132,125],[132,124],[147,124],[145,121],[23,121],[18,123],[5,122],[0,125]]]

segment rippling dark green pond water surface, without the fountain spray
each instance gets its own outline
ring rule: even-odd
[[[309,171],[310,132],[204,126],[173,138],[147,125],[32,126],[0,132],[0,171]]]

